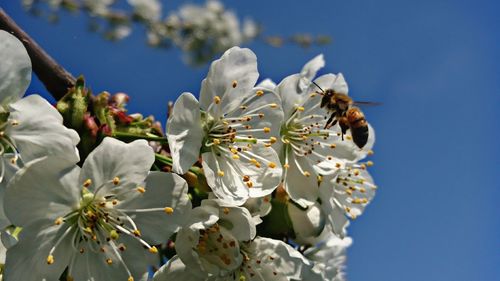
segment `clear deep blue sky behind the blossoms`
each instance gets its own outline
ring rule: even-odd
[[[131,111],[163,119],[168,100],[198,93],[207,67],[149,49],[142,32],[114,44],[88,33],[82,16],[51,25],[19,2],[2,6],[94,90],[127,92]],[[499,2],[224,3],[269,34],[333,36],[332,45],[308,50],[248,45],[262,78],[279,81],[323,53],[326,71],[343,72],[353,97],[383,102],[364,110],[377,133],[372,172],[380,189],[350,227],[349,279],[500,280]],[[29,91],[44,88],[34,83]]]

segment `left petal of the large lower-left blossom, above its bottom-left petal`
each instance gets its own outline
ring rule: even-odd
[[[21,227],[40,220],[53,223],[65,216],[79,205],[79,170],[55,157],[30,162],[7,187],[5,214],[14,225]]]

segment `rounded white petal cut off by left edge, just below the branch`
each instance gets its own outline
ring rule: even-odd
[[[21,41],[0,30],[0,104],[20,99],[31,82],[31,60]]]

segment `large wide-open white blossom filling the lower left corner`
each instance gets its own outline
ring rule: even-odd
[[[82,168],[28,163],[5,194],[7,217],[22,227],[6,279],[58,280],[67,268],[70,280],[139,280],[191,209],[186,182],[150,173],[153,162],[146,141],[105,138]]]

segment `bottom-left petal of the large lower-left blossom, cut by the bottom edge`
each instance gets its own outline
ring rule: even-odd
[[[47,264],[49,252],[65,229],[35,222],[23,228],[19,243],[9,249],[5,264],[5,280],[59,280],[71,256],[71,235],[66,236],[52,253],[54,263]]]

